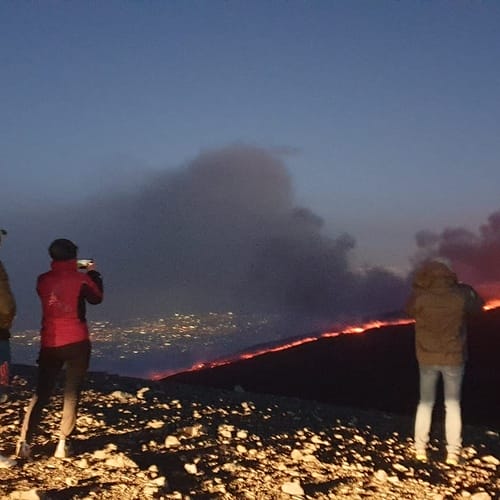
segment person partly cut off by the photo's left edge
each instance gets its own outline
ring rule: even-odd
[[[0,243],[6,231],[0,229]],[[7,400],[10,379],[10,328],[16,315],[16,302],[10,288],[7,271],[0,261],[0,403]],[[0,455],[0,468],[11,467],[14,460]]]

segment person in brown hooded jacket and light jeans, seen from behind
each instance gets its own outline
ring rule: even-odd
[[[443,379],[446,463],[457,465],[462,447],[461,390],[465,362],[466,317],[482,310],[483,300],[460,284],[443,262],[425,262],[415,273],[406,311],[415,319],[415,351],[420,371],[420,400],[415,416],[415,453],[427,461],[438,378]]]

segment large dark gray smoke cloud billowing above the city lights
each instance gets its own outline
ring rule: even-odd
[[[356,272],[355,241],[324,234],[320,216],[296,205],[282,156],[250,146],[201,153],[133,189],[75,204],[4,212],[19,321],[38,315],[36,276],[54,238],[73,239],[105,279],[109,317],[175,311],[294,312],[338,318],[398,309],[405,280]],[[94,316],[94,311],[93,311]]]

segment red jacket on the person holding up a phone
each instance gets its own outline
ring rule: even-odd
[[[52,261],[51,270],[38,277],[36,290],[42,302],[42,348],[61,347],[89,338],[85,302],[102,302],[98,272],[78,271],[76,260]]]

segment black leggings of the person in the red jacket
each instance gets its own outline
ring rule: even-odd
[[[59,438],[71,435],[76,424],[76,412],[82,382],[90,361],[90,342],[85,340],[62,347],[48,347],[40,350],[38,358],[38,382],[36,392],[24,416],[21,441],[31,442],[42,419],[42,411],[49,403],[54,386],[63,366],[66,368],[64,385],[64,407]]]

